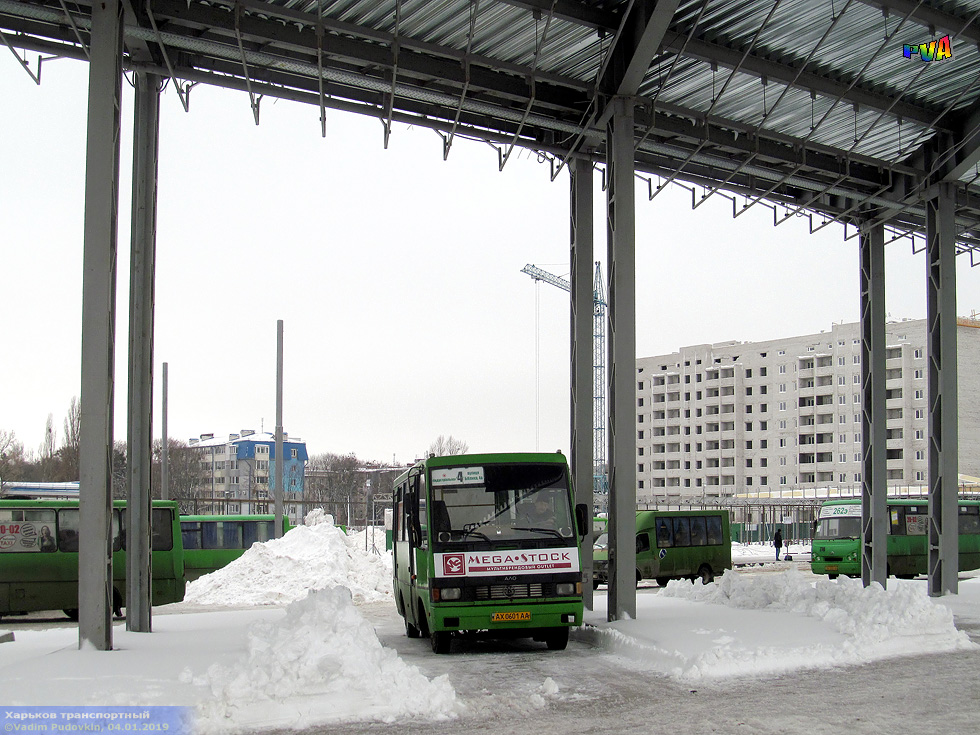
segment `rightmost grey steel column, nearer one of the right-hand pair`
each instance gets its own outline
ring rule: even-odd
[[[956,386],[956,227],[952,184],[926,202],[929,329],[929,594],[956,594],[959,462]]]

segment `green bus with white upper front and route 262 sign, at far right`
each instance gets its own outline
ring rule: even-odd
[[[980,501],[959,501],[959,570],[980,569]],[[861,500],[828,500],[814,521],[810,569],[835,579],[861,576]],[[888,575],[928,574],[929,504],[888,499]]]

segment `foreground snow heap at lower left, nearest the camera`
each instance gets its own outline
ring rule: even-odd
[[[456,715],[448,676],[430,681],[384,648],[345,589],[310,592],[285,619],[250,626],[247,639],[237,664],[181,675],[210,689],[198,705],[199,732]]]

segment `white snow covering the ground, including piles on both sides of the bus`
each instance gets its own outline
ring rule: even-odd
[[[310,521],[191,583],[185,602],[155,611],[152,634],[117,625],[112,652],[78,651],[75,627],[17,625],[14,642],[0,644],[4,705],[185,705],[201,733],[438,723],[483,711],[486,667],[506,668],[511,680],[526,676],[522,701],[544,707],[560,696],[563,673],[581,673],[589,651],[607,668],[671,686],[731,686],[980,649],[962,630],[980,627],[980,575],[934,601],[922,580],[864,589],[793,561],[729,571],[707,586],[642,589],[636,620],[607,623],[599,592],[569,651],[529,646],[519,666],[508,658],[518,654],[491,665],[484,649],[465,642],[435,657],[398,630],[390,557],[365,552],[363,533],[346,537],[329,517]],[[771,547],[759,548],[774,561]],[[463,675],[471,661],[476,673]],[[549,675],[534,673],[537,663]],[[587,699],[588,685],[575,696]],[[521,711],[513,702],[505,709]]]

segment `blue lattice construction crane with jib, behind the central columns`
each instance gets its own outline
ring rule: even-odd
[[[572,284],[553,273],[528,263],[521,268],[535,281],[544,281],[571,293]],[[609,495],[606,467],[606,299],[602,288],[602,268],[596,262],[592,282],[592,489],[600,510]]]

